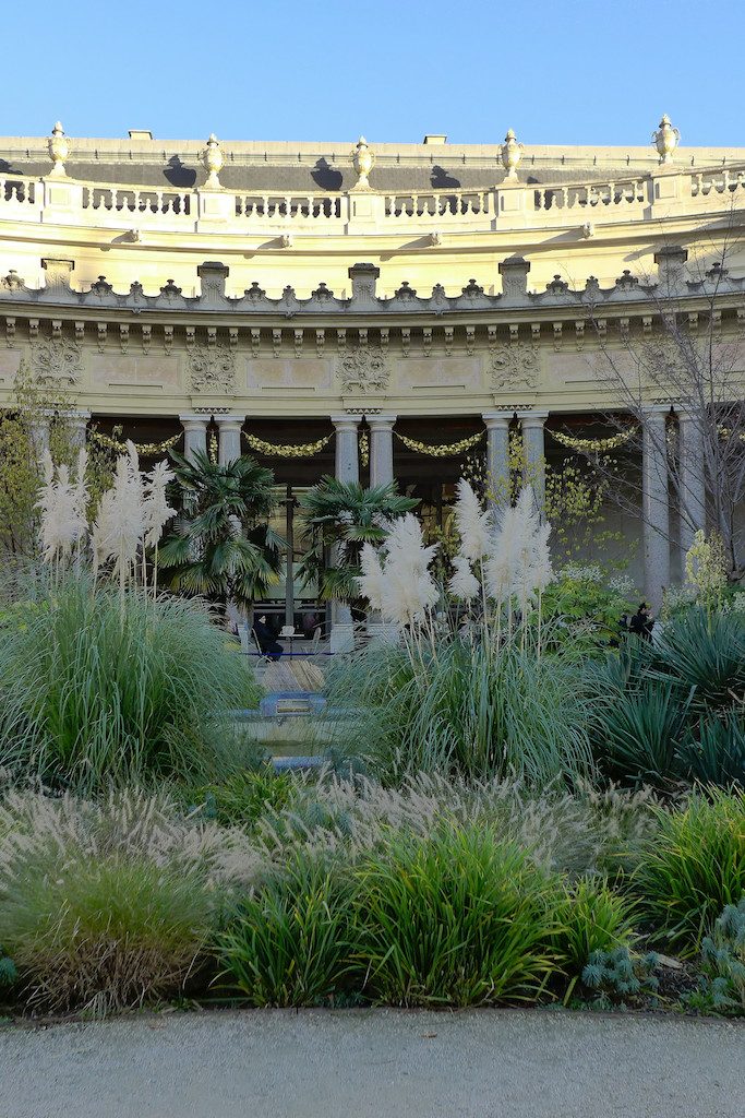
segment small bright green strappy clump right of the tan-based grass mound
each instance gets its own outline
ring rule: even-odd
[[[254,1006],[318,1005],[346,989],[351,887],[296,855],[241,902],[218,938],[221,977]]]

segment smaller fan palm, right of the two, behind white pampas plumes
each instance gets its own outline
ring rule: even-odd
[[[401,496],[395,482],[364,489],[357,482],[326,476],[298,504],[309,542],[297,568],[299,577],[306,584],[317,580],[326,601],[357,601],[362,544],[381,543],[388,534],[386,522],[414,509],[419,501]]]

